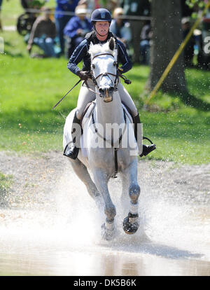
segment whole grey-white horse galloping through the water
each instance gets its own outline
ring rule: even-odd
[[[123,221],[123,230],[127,234],[133,234],[139,228],[138,146],[132,119],[121,104],[117,90],[119,80],[114,55],[115,45],[113,38],[103,45],[90,44],[96,99],[92,105],[92,113],[83,119],[83,135],[80,139],[82,148],[78,158],[68,158],[97,206],[104,208],[106,221],[102,225],[102,237],[106,240],[111,240],[116,233],[116,207],[108,189],[109,179],[116,175],[116,171],[122,175],[123,194],[130,196],[130,208]],[[71,125],[75,110],[69,113],[64,125],[64,149],[72,141]],[[125,184],[128,188],[125,188]]]

